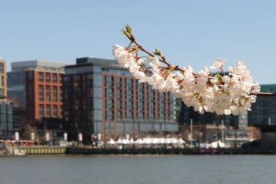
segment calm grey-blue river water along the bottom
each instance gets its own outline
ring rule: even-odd
[[[276,156],[62,155],[0,158],[1,184],[276,183]]]

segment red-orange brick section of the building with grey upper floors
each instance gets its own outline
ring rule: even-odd
[[[43,117],[61,118],[61,86],[64,72],[26,71],[26,117],[38,121]]]

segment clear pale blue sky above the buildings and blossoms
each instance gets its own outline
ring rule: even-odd
[[[195,70],[244,61],[255,81],[276,83],[276,1],[1,1],[0,56],[75,63],[113,59],[129,23],[148,50]]]

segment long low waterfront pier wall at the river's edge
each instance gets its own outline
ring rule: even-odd
[[[276,149],[271,150],[245,150],[242,148],[94,148],[59,147],[59,146],[29,146],[17,147],[21,154],[276,154]]]

